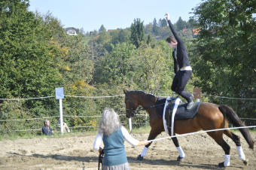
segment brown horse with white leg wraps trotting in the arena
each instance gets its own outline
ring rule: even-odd
[[[156,138],[157,135],[159,135],[161,132],[164,132],[163,117],[160,117],[160,113],[157,113],[157,107],[159,107],[157,106],[157,102],[160,100],[159,97],[142,91],[123,90],[123,92],[125,93],[126,117],[134,117],[135,111],[139,105],[141,105],[142,108],[144,108],[145,111],[147,111],[149,114],[151,132],[148,136],[148,140],[152,140]],[[175,120],[174,132],[177,134],[184,134],[189,132],[197,132],[201,129],[223,129],[228,128],[228,123],[232,123],[233,126],[237,127],[244,126],[242,121],[239,120],[237,114],[231,108],[225,105],[215,105],[213,103],[202,102],[194,118],[188,120]],[[248,129],[243,128],[239,129],[239,131],[242,133],[249,147],[253,150],[254,141],[252,140]],[[230,129],[207,132],[207,134],[211,136],[224,150],[224,162],[218,164],[220,167],[230,165],[230,146],[226,141],[224,141],[223,134],[227,135],[235,142],[239,153],[239,159],[242,159],[245,165],[247,164],[238,135],[235,135],[230,131]],[[179,152],[177,160],[183,161],[184,152],[178,144],[178,139],[174,137],[172,138],[172,141]],[[142,153],[138,156],[138,159],[143,159],[143,156],[146,155],[150,145],[151,143],[145,146],[144,150],[142,150]]]

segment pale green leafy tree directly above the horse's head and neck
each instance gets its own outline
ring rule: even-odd
[[[173,61],[169,56],[169,47],[165,41],[159,41],[154,48],[144,45],[138,49],[138,56],[130,59],[134,74],[130,82],[137,89],[154,94],[171,94]]]

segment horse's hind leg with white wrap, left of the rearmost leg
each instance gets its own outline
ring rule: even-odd
[[[219,167],[226,167],[230,165],[230,145],[223,139],[223,132],[207,132],[219,144],[225,152],[224,162],[218,164]]]

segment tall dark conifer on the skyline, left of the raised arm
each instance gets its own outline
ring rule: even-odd
[[[136,48],[138,48],[142,44],[142,41],[144,41],[145,36],[143,21],[141,22],[139,18],[136,20],[134,19],[130,29],[130,41],[136,46]]]

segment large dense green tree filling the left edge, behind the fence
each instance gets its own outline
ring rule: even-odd
[[[55,87],[63,86],[56,62],[61,51],[52,43],[51,26],[29,12],[28,7],[28,1],[0,2],[1,98],[53,96]],[[52,115],[57,112],[56,100],[0,101],[0,112],[5,113],[0,114],[1,119]],[[38,123],[23,124],[5,122],[1,126],[7,129],[27,129],[30,126],[35,129]]]

